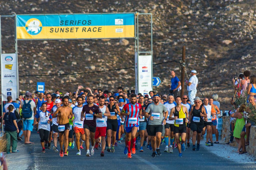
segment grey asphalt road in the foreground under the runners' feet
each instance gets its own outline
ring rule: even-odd
[[[61,158],[52,149],[41,153],[40,138],[36,132],[31,133],[30,139],[35,142],[34,145],[24,145],[23,141],[19,141],[17,149],[20,152],[5,155],[9,169],[256,169],[254,163],[233,162],[210,153],[204,147],[200,147],[200,151],[192,151],[190,147],[183,152],[182,158],[178,157],[177,149],[174,149],[173,154],[165,153],[164,145],[160,146],[162,155],[155,158],[151,157],[152,151],[143,148],[144,152],[136,150],[132,159],[127,159],[127,155],[123,154],[123,140],[115,147],[114,153],[105,151],[104,157],[100,156],[100,150],[95,150],[91,157],[85,156],[85,149],[81,150],[81,155],[76,155],[75,146],[68,150],[68,156]]]

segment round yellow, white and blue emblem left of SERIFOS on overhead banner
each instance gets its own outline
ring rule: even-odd
[[[26,31],[30,35],[37,35],[42,31],[42,23],[36,18],[31,18],[26,22]]]

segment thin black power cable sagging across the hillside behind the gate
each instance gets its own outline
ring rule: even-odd
[[[169,62],[178,62],[179,60],[166,61],[161,63],[152,64],[153,66],[169,63]],[[108,72],[108,71],[117,71],[117,70],[125,70],[125,69],[134,69],[135,67],[126,67],[121,69],[112,69],[112,70],[102,70],[102,71],[91,71],[91,72],[82,72],[82,73],[64,73],[64,74],[39,74],[39,75],[19,75],[19,77],[35,77],[35,76],[56,76],[56,75],[75,75],[75,74],[89,74],[89,73],[100,73],[100,72]]]

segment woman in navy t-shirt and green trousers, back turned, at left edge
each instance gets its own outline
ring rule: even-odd
[[[16,122],[15,113],[13,113],[13,105],[8,106],[8,112],[4,114],[3,124],[5,125],[5,135],[7,140],[6,153],[10,153],[11,147],[11,137],[12,137],[12,152],[19,152],[17,148],[17,133],[19,133],[19,128]]]

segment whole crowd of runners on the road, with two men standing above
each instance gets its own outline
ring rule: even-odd
[[[186,82],[188,95],[178,96],[180,81],[172,71],[168,95],[155,91],[135,94],[134,90],[122,87],[113,92],[92,91],[79,85],[74,93],[66,94],[59,90],[55,93],[27,91],[19,96],[19,104],[7,97],[4,113],[9,105],[20,108],[23,121],[20,120],[22,125],[18,123],[17,128],[19,132],[23,130],[24,143],[34,144],[30,141],[30,133],[35,129],[40,136],[42,152],[52,148],[61,157],[68,156],[68,147],[73,149],[75,145],[77,155],[82,154],[84,146],[86,156],[94,155],[95,149],[104,156],[106,151],[115,152],[121,142],[125,142],[123,153],[128,158],[145,149],[152,150],[152,157],[161,155],[160,145],[165,145],[164,152],[168,153],[177,148],[178,156],[182,157],[182,152],[190,148],[191,130],[193,151],[200,150],[201,135],[206,132],[205,145],[219,143],[216,134],[219,102],[212,97],[203,100],[196,97],[196,71],[192,70],[191,74]],[[216,134],[215,142],[212,134]],[[23,135],[18,133],[17,136],[18,140],[23,140]]]

